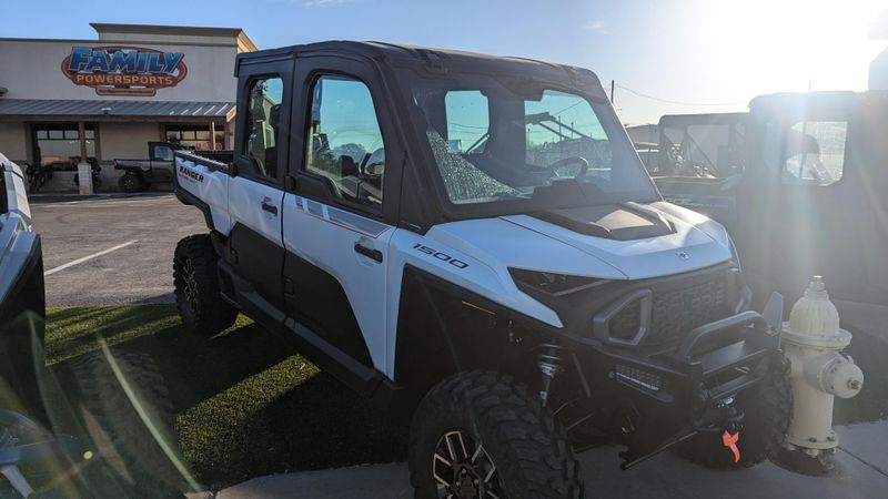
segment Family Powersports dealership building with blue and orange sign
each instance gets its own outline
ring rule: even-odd
[[[113,160],[149,142],[231,147],[234,59],[256,50],[243,30],[90,26],[95,40],[0,38],[0,153],[51,167],[42,191],[75,191],[83,151],[113,190]]]

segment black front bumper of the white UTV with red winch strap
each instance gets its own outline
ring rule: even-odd
[[[601,387],[593,388],[591,406],[614,409],[614,427],[628,446],[620,467],[740,424],[743,414],[731,403],[780,365],[781,319],[783,297],[775,293],[763,313],[740,312],[698,326],[668,353],[599,346],[594,358],[575,357],[584,385]],[[596,378],[604,381],[589,383]],[[583,422],[567,422],[568,430]]]

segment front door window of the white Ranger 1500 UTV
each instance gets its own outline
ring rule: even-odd
[[[382,207],[385,149],[370,89],[342,77],[312,86],[305,170],[330,179],[346,201]]]

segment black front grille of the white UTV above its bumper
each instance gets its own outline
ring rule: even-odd
[[[678,344],[695,327],[731,314],[727,281],[718,274],[684,286],[636,291],[595,316],[595,336],[623,346]]]

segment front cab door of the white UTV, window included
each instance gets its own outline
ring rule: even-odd
[[[329,356],[383,370],[389,241],[397,165],[384,96],[370,63],[301,58],[292,190],[283,201],[287,314]]]

